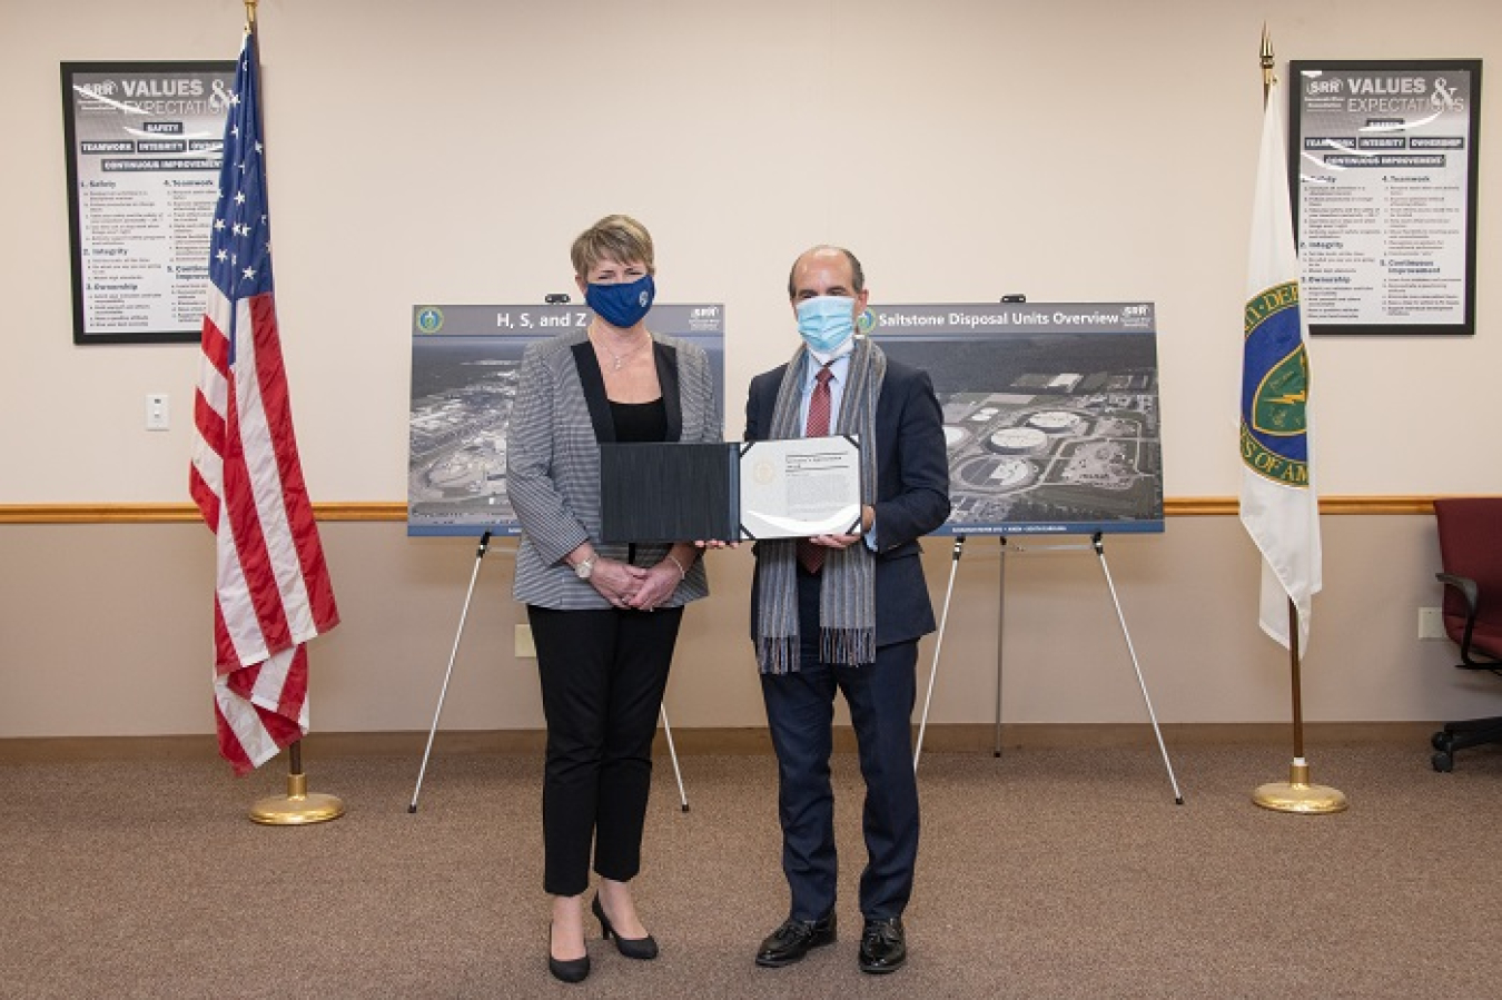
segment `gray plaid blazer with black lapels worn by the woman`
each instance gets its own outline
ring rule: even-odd
[[[653,333],[652,354],[667,408],[667,440],[722,440],[704,351]],[[599,541],[601,440],[614,440],[614,423],[589,335],[575,330],[527,347],[506,437],[506,491],[521,523],[512,587],[517,601],[563,611],[610,608],[563,562],[584,541],[593,541],[595,550],[610,559],[625,560],[629,554],[625,544]],[[670,547],[634,548],[637,566],[655,566]],[[703,560],[695,560],[664,605],[680,607],[707,595]]]

